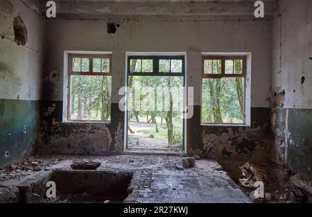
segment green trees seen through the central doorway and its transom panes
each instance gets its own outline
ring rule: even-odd
[[[159,60],[160,72],[182,72],[182,60]],[[130,60],[130,73],[131,72],[153,72],[153,60]],[[146,136],[152,137],[166,137],[168,146],[180,146],[182,148],[182,110],[183,101],[173,96],[173,92],[169,91],[171,87],[180,87],[182,89],[183,76],[129,76],[128,86],[132,89],[132,110],[128,112],[129,122],[139,122],[142,117],[146,117],[144,122],[155,124],[155,132],[146,132]],[[140,87],[138,87],[140,86]],[[154,87],[150,92],[148,87]],[[159,92],[157,87],[164,87],[164,91]],[[158,92],[157,92],[158,90]],[[166,91],[167,90],[167,91]],[[139,94],[139,96],[137,96]],[[150,100],[148,94],[153,94],[154,108],[146,111],[144,108],[137,108],[138,99],[141,102]],[[180,93],[182,94],[182,93]],[[182,99],[182,98],[181,98]],[[141,104],[139,104],[141,105]],[[174,107],[176,105],[176,107]],[[159,109],[160,107],[160,109]],[[166,134],[159,129],[159,125],[166,129]],[[135,133],[130,125],[128,130]]]

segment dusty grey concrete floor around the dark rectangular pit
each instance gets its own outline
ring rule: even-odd
[[[8,186],[33,182],[40,174],[56,169],[71,170],[73,160],[101,162],[97,171],[133,171],[133,191],[124,202],[250,202],[239,186],[213,160],[196,160],[195,168],[179,170],[176,166],[181,166],[182,157],[162,155],[33,157],[30,161],[39,161],[42,171],[27,171],[24,174],[19,167],[10,172],[3,171],[0,173],[0,189],[4,192],[3,189]]]

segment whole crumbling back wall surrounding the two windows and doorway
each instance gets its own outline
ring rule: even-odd
[[[85,15],[87,17],[87,15]],[[64,16],[63,16],[64,18]],[[107,21],[119,24],[116,33],[107,33]],[[235,19],[230,17],[142,17],[118,16],[109,19],[61,19],[46,21],[46,70],[44,72],[44,101],[46,112],[56,106],[54,121],[43,120],[49,127],[42,132],[45,138],[40,151],[51,153],[99,154],[104,150],[123,149],[123,114],[118,109],[119,88],[125,85],[125,53],[187,52],[187,85],[194,87],[194,116],[191,125],[191,151],[199,149],[202,155],[221,157],[262,156],[268,144],[266,127],[269,125],[271,83],[271,21]],[[55,36],[57,35],[57,37]],[[62,123],[64,51],[112,51],[112,121],[109,124]],[[202,52],[252,53],[252,126],[209,127],[200,125],[200,70]],[[51,76],[51,73],[56,73]],[[114,115],[114,113],[116,113]],[[46,119],[46,118],[44,118]],[[52,129],[57,128],[55,132]],[[80,127],[81,126],[81,127]],[[119,128],[121,127],[121,128]],[[79,128],[78,130],[72,130]],[[98,128],[104,135],[92,141]],[[84,130],[85,129],[85,130]],[[107,132],[107,129],[110,133]],[[118,130],[117,129],[121,129]],[[91,134],[89,131],[92,131]],[[59,132],[60,135],[58,135]],[[63,133],[64,132],[64,133]],[[112,135],[111,137],[109,136]],[[220,135],[223,134],[221,137]],[[78,140],[74,137],[78,137]],[[81,137],[81,138],[80,138]],[[114,137],[116,137],[114,141]],[[100,142],[101,140],[101,142]],[[42,140],[43,141],[43,140]],[[87,147],[88,141],[90,146]],[[222,141],[220,143],[220,141]],[[100,142],[98,152],[96,143]],[[67,148],[67,144],[71,150]],[[82,144],[83,148],[80,148]],[[111,148],[110,148],[111,147]],[[214,147],[214,148],[212,148]],[[84,151],[85,148],[85,151]],[[92,150],[93,148],[93,150]],[[57,151],[56,151],[57,150]],[[108,151],[110,153],[110,151]]]

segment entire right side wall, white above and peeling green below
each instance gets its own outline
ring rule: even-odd
[[[279,2],[272,28],[272,159],[312,177],[312,1]]]

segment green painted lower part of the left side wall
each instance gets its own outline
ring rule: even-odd
[[[0,166],[31,155],[37,141],[40,101],[0,99]]]

